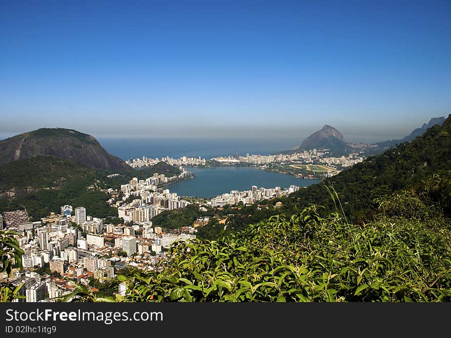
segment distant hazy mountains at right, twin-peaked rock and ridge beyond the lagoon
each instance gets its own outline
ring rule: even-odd
[[[366,150],[367,155],[375,155],[383,152],[384,150],[391,148],[397,144],[401,144],[404,142],[409,142],[414,140],[416,137],[421,136],[428,128],[434,125],[442,125],[445,121],[445,117],[433,117],[430,119],[428,124],[423,124],[421,128],[417,128],[408,136],[402,138],[402,140],[390,140],[379,142],[371,145]],[[325,125],[321,130],[315,131],[309,137],[305,138],[302,144],[294,149],[282,151],[282,154],[293,154],[296,152],[302,152],[304,150],[312,150],[312,149],[327,149],[327,151],[332,156],[343,156],[347,155],[351,152],[355,152],[357,149],[361,149],[362,147],[355,148],[355,145],[350,143],[346,143],[343,135],[334,127],[329,125]],[[358,144],[357,144],[358,145]],[[362,144],[361,144],[362,145]]]

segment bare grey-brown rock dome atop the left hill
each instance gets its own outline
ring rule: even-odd
[[[64,128],[42,128],[0,141],[0,164],[53,155],[97,169],[129,171],[120,158],[108,153],[88,134]]]

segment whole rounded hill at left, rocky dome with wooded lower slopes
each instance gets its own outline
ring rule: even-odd
[[[109,177],[117,173],[118,176]],[[101,188],[119,189],[132,177],[178,175],[165,162],[135,170],[97,140],[72,129],[42,128],[0,141],[0,213],[25,206],[38,220],[61,205],[86,206],[94,217],[117,215]]]

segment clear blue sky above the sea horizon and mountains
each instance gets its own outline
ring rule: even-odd
[[[451,113],[449,36],[449,1],[1,0],[0,135],[400,138]]]

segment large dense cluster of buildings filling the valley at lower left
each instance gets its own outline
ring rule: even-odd
[[[20,302],[52,302],[76,284],[104,283],[127,266],[155,269],[173,242],[196,237],[193,227],[165,232],[152,222],[104,224],[87,215],[86,208],[69,205],[38,222],[29,221],[25,208],[0,216],[2,227],[19,233],[15,237],[24,251],[23,269],[0,275],[0,282],[22,285],[18,294],[24,298],[15,300]]]

